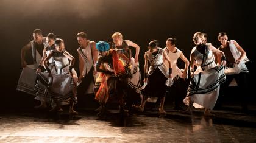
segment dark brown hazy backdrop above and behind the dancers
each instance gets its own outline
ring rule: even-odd
[[[5,107],[28,102],[17,98],[22,93],[15,88],[21,73],[21,47],[32,40],[32,32],[37,28],[43,30],[44,36],[52,32],[63,38],[66,49],[76,59],[78,32],[86,32],[89,40],[93,41],[112,41],[111,35],[121,32],[124,39],[140,46],[141,71],[149,41],[159,40],[160,47],[165,47],[166,39],[175,37],[177,47],[189,58],[194,46],[193,34],[197,31],[207,33],[208,42],[215,47],[220,46],[218,33],[227,32],[229,40],[236,40],[247,57],[252,62],[255,60],[254,1],[1,0],[0,13],[0,95],[1,105]],[[179,66],[183,68],[180,61]],[[79,72],[78,60],[75,69]],[[31,99],[29,102],[33,102]]]

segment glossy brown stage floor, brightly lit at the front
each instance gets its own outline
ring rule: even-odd
[[[98,120],[93,110],[69,117],[47,111],[14,111],[0,114],[0,142],[256,142],[256,117],[215,111],[208,118],[202,111],[193,116],[169,110],[133,113],[120,118],[110,110]]]

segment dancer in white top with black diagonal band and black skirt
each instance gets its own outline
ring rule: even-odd
[[[168,78],[172,78],[171,61],[165,50],[158,48],[157,40],[151,41],[148,48],[149,50],[144,54],[144,82],[147,83],[147,85],[141,92],[143,98],[140,106],[132,105],[132,107],[135,108],[135,110],[143,112],[148,97],[159,97],[161,99],[159,112],[160,114],[166,114],[163,108],[166,94],[165,82]],[[168,61],[169,72],[165,64],[163,64],[163,58]],[[149,71],[148,63],[150,64]]]

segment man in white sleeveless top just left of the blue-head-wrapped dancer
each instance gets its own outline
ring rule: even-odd
[[[77,49],[80,71],[77,92],[78,95],[93,94],[96,78],[95,63],[98,59],[96,43],[88,40],[87,34],[84,32],[77,33],[77,41],[80,44]]]

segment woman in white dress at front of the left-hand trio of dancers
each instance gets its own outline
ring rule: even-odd
[[[69,99],[69,113],[77,114],[77,112],[74,111],[74,101],[76,100],[76,83],[78,78],[76,71],[73,69],[74,57],[65,50],[64,41],[62,39],[56,39],[54,44],[56,50],[50,52],[43,62],[46,71],[48,71],[48,77],[53,78],[52,85],[49,86],[48,95],[54,99],[57,105],[54,108],[55,110],[60,110],[58,99]],[[57,74],[52,73],[51,69],[48,68],[48,60],[51,57],[54,58]]]

